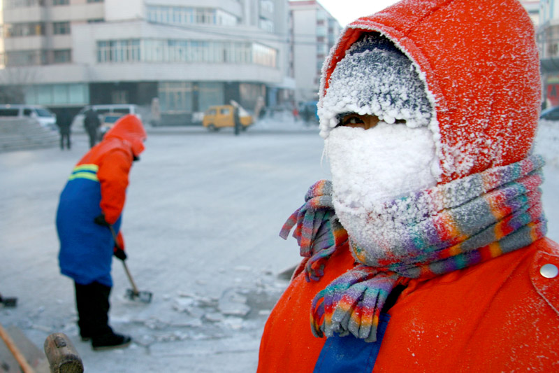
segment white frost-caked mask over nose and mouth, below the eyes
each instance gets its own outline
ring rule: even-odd
[[[386,229],[400,236],[407,227],[393,221],[383,202],[436,184],[433,134],[426,127],[379,122],[371,129],[338,127],[326,139],[333,204],[351,240],[382,255]]]

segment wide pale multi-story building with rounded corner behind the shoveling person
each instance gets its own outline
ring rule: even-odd
[[[287,0],[3,0],[0,100],[168,118],[291,99]]]

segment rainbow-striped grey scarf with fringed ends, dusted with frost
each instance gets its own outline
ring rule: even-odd
[[[431,279],[491,260],[545,236],[541,190],[544,160],[530,155],[520,162],[494,167],[450,183],[385,202],[382,209],[405,214],[405,232],[393,251],[382,257],[349,239],[357,265],[321,290],[310,311],[317,337],[351,333],[366,342],[377,339],[379,315],[386,297],[409,279]],[[318,281],[324,263],[344,246],[347,232],[335,216],[330,181],[319,181],[280,232],[293,237],[307,261],[307,281]],[[421,208],[416,208],[421,206]],[[389,213],[388,215],[390,216]],[[402,255],[405,252],[405,255]],[[394,253],[399,253],[395,255]]]

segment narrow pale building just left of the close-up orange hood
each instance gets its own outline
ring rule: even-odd
[[[324,59],[340,34],[340,23],[316,0],[289,1],[295,99],[318,99]]]

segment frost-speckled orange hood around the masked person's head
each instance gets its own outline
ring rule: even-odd
[[[323,66],[319,108],[338,62],[368,33],[412,60],[435,107],[439,183],[523,159],[540,104],[539,56],[516,0],[404,0],[344,29]],[[323,128],[324,130],[324,128]]]

